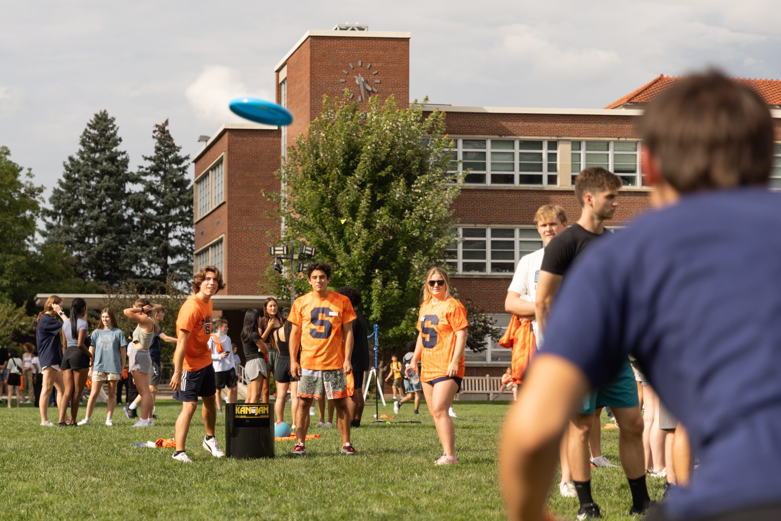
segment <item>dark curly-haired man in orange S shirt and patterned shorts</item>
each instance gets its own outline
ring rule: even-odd
[[[291,374],[299,378],[294,455],[304,455],[308,410],[315,398],[333,401],[342,438],[342,454],[357,454],[350,442],[347,376],[352,373],[352,321],[355,311],[350,299],[328,289],[331,266],[312,262],[307,268],[312,291],[296,298],[287,320],[293,324],[290,337]],[[297,360],[301,349],[301,364]]]

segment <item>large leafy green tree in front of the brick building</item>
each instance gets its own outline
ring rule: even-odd
[[[362,291],[384,344],[414,334],[423,276],[455,239],[451,203],[462,178],[451,171],[444,118],[424,116],[418,102],[399,109],[392,97],[384,105],[370,98],[366,112],[326,97],[277,173],[287,191],[270,195],[284,243],[317,248],[316,259],[333,266],[331,286]]]

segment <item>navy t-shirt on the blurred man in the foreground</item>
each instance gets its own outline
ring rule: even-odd
[[[545,337],[594,387],[634,355],[700,460],[665,505],[690,519],[781,502],[781,194],[691,194],[597,241]]]

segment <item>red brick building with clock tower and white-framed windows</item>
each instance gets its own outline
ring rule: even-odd
[[[408,101],[410,37],[365,29],[308,31],[274,71],[276,102],[293,112],[294,123],[283,128],[224,125],[194,155],[194,268],[212,263],[223,269],[223,314],[234,330],[243,310],[261,307],[266,298],[259,295],[258,281],[269,265],[268,247],[279,237],[280,224],[266,216],[270,203],[260,192],[280,190],[273,173],[286,146],[319,116],[323,95],[338,96],[349,88],[360,103],[370,95]],[[430,105],[447,112],[461,168],[472,169],[453,209],[464,240],[448,259],[462,298],[472,299],[499,325],[508,323],[504,300],[515,266],[542,245],[532,223],[534,212],[556,203],[574,222],[580,208],[572,179],[586,166],[604,166],[624,181],[611,226],[625,226],[649,208],[636,122],[644,103],[677,79],[655,78],[605,109]],[[747,81],[773,108],[781,104],[781,82]],[[779,112],[773,110],[776,118]],[[781,124],[776,123],[781,140]],[[781,173],[776,175],[774,183],[781,184]],[[499,374],[509,359],[508,350],[492,344],[483,353],[467,353],[468,372]]]

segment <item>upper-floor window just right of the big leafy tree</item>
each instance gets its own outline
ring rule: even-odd
[[[455,162],[471,169],[466,184],[557,186],[558,141],[453,138]]]

